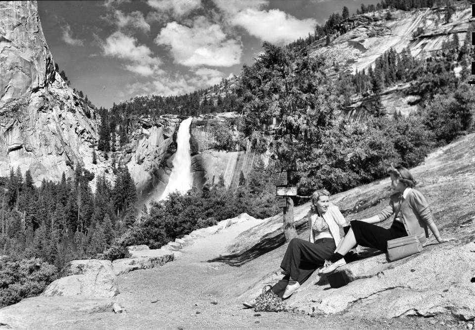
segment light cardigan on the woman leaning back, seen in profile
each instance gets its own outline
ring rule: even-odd
[[[423,194],[411,189],[406,198],[403,198],[401,193],[391,195],[389,205],[378,214],[380,222],[396,213],[398,209],[397,217],[404,224],[407,235],[417,235],[421,243],[425,243],[426,237],[429,237],[427,226],[434,221]]]

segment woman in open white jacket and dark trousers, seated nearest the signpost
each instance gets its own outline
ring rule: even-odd
[[[329,196],[326,189],[312,194],[312,206],[307,215],[310,238],[308,241],[300,238],[290,240],[281,263],[287,275],[268,291],[272,290],[283,299],[288,298],[335,251],[340,241],[339,227],[346,226],[346,221],[338,207],[330,203]],[[339,265],[345,263],[343,259],[338,261]],[[244,303],[249,308],[254,305],[255,299]]]

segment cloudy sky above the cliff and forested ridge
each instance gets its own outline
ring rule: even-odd
[[[380,0],[38,1],[54,61],[95,106],[179,95],[252,64],[264,41],[284,46],[333,12]]]

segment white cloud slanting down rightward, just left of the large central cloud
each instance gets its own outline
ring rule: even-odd
[[[160,58],[153,57],[150,48],[137,45],[137,39],[116,31],[102,45],[102,53],[128,61],[125,68],[142,76],[161,73]]]

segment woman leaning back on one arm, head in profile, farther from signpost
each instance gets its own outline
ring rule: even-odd
[[[455,239],[440,236],[437,226],[432,220],[426,198],[421,192],[413,189],[416,181],[409,170],[398,166],[388,172],[391,177],[391,187],[397,192],[391,195],[389,205],[380,214],[371,218],[351,221],[351,229],[341,240],[335,253],[325,260],[325,265],[319,273],[330,273],[342,266],[344,263],[340,260],[356,244],[386,252],[388,240],[408,235],[417,235],[421,243],[424,244],[428,237],[427,227],[430,228],[439,243]],[[394,213],[396,216],[389,229],[373,225],[388,219]]]

